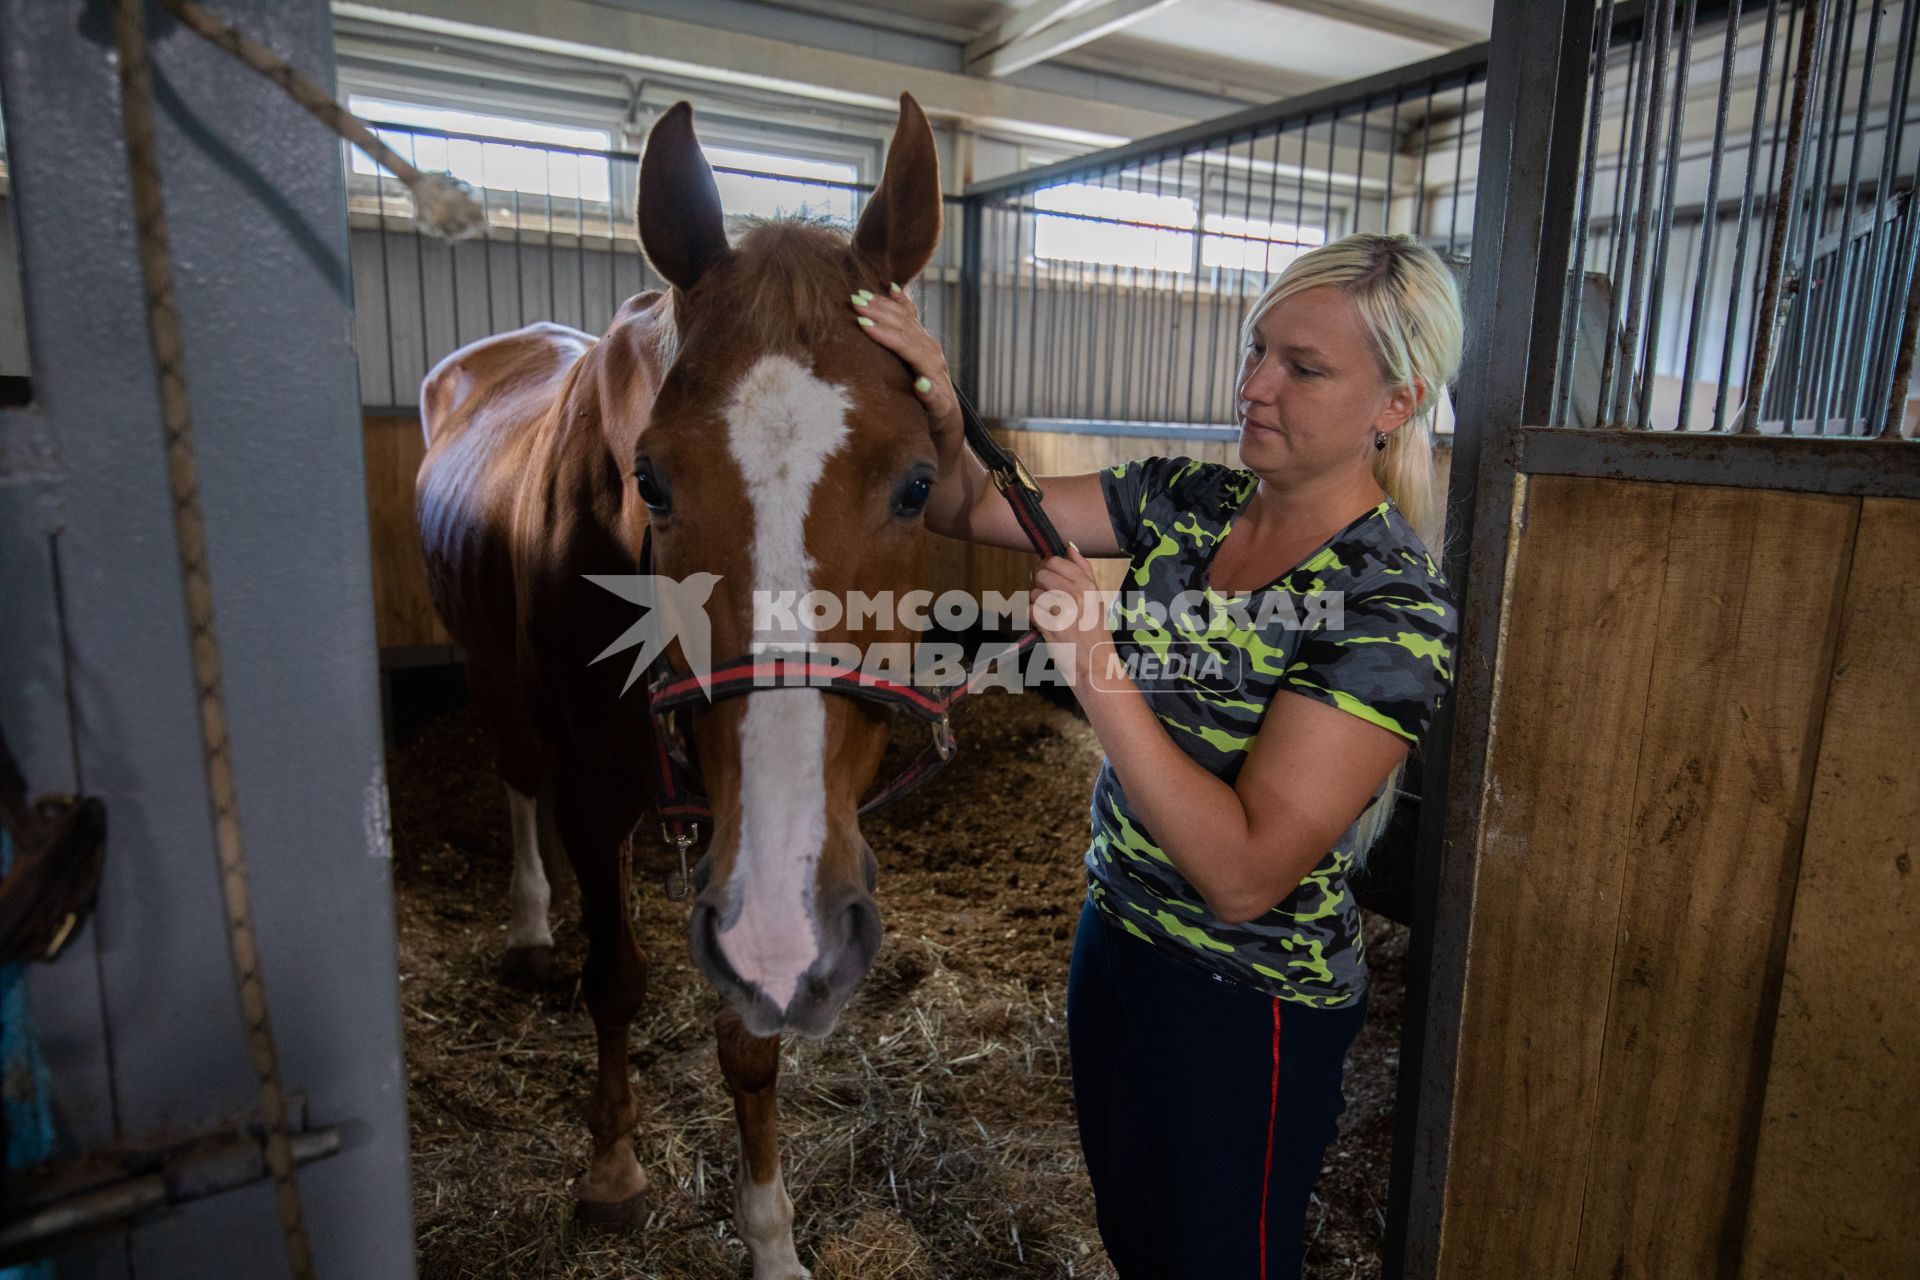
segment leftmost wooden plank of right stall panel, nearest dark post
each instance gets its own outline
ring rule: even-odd
[[[1572,1272],[1676,495],[1544,476],[1517,499],[1438,1276]]]

